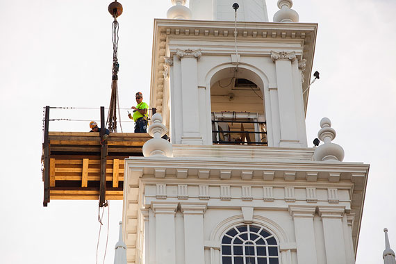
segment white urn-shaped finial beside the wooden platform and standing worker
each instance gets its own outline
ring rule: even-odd
[[[149,126],[149,134],[153,137],[143,145],[143,156],[145,157],[172,157],[172,144],[161,138],[165,135],[167,129],[163,122],[163,117],[156,113],[151,117],[151,126]]]

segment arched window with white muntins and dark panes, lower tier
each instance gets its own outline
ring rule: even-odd
[[[243,224],[222,239],[222,264],[278,264],[278,243],[261,226]]]

